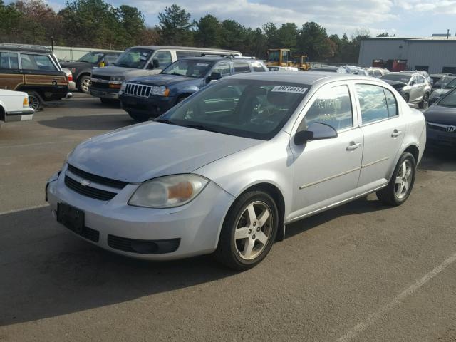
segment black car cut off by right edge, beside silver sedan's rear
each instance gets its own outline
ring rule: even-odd
[[[427,148],[456,148],[456,88],[446,93],[424,113],[427,127]]]

